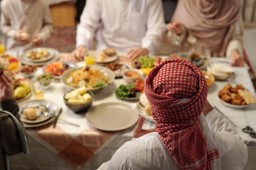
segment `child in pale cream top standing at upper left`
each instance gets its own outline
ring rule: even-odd
[[[9,51],[38,47],[53,31],[49,6],[45,0],[2,0],[0,29]]]

